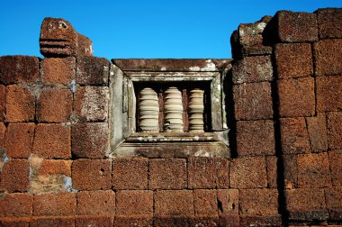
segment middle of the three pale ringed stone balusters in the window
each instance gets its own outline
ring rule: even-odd
[[[175,86],[165,91],[165,120],[166,132],[183,132],[183,104],[182,93]]]

